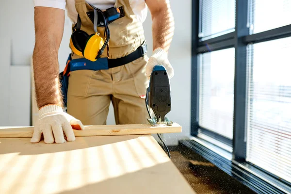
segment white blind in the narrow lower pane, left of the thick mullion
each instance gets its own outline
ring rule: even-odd
[[[199,62],[199,126],[232,139],[234,48],[207,52]]]

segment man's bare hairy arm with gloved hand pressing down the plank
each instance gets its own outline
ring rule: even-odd
[[[32,143],[44,134],[45,143],[62,144],[74,141],[74,129],[83,129],[81,122],[64,113],[59,79],[59,48],[63,37],[65,10],[51,7],[34,8],[35,45],[33,73],[39,118],[35,124]]]

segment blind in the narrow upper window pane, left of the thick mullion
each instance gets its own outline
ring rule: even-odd
[[[233,32],[235,0],[200,0],[199,37],[202,40]]]

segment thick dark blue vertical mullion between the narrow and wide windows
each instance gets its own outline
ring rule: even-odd
[[[246,76],[247,58],[246,45],[243,43],[243,36],[249,34],[247,27],[248,1],[236,0],[236,26],[235,26],[235,77],[234,77],[234,118],[233,118],[233,159],[245,161],[246,157]]]

